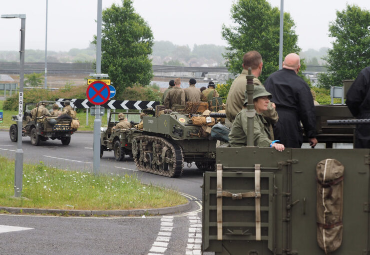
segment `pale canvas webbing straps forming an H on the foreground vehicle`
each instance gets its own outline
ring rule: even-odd
[[[222,197],[231,197],[233,200],[255,197],[256,211],[256,241],[261,241],[261,165],[255,165],[255,191],[233,194],[222,190],[222,165],[217,164],[217,240],[222,240]]]

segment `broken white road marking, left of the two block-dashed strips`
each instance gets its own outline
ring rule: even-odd
[[[148,255],[163,255],[163,253],[167,250],[173,229],[173,227],[163,227],[168,226],[168,224],[173,226],[173,216],[163,216],[161,218],[160,231],[158,232],[157,239],[154,241]],[[152,254],[150,252],[154,252],[156,254]]]

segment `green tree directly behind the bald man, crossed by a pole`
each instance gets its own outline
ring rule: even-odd
[[[241,73],[243,55],[257,50],[263,58],[261,82],[279,69],[280,10],[266,0],[237,0],[231,6],[231,18],[235,25],[222,26],[222,37],[228,42],[223,54],[226,66],[233,74]],[[284,12],[283,56],[300,52],[295,23],[288,12]],[[306,65],[301,59],[301,71]]]

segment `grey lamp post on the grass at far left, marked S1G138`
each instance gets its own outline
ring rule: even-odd
[[[23,150],[22,150],[22,112],[23,112],[23,80],[24,80],[24,35],[25,14],[3,14],[1,18],[20,18],[20,70],[19,70],[19,101],[18,101],[18,131],[17,147],[15,151],[15,173],[14,173],[14,197],[20,197],[22,193],[23,177]]]

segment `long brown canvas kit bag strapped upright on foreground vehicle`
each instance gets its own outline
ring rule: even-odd
[[[325,254],[336,251],[343,237],[344,166],[336,159],[325,159],[316,166],[317,241]]]

